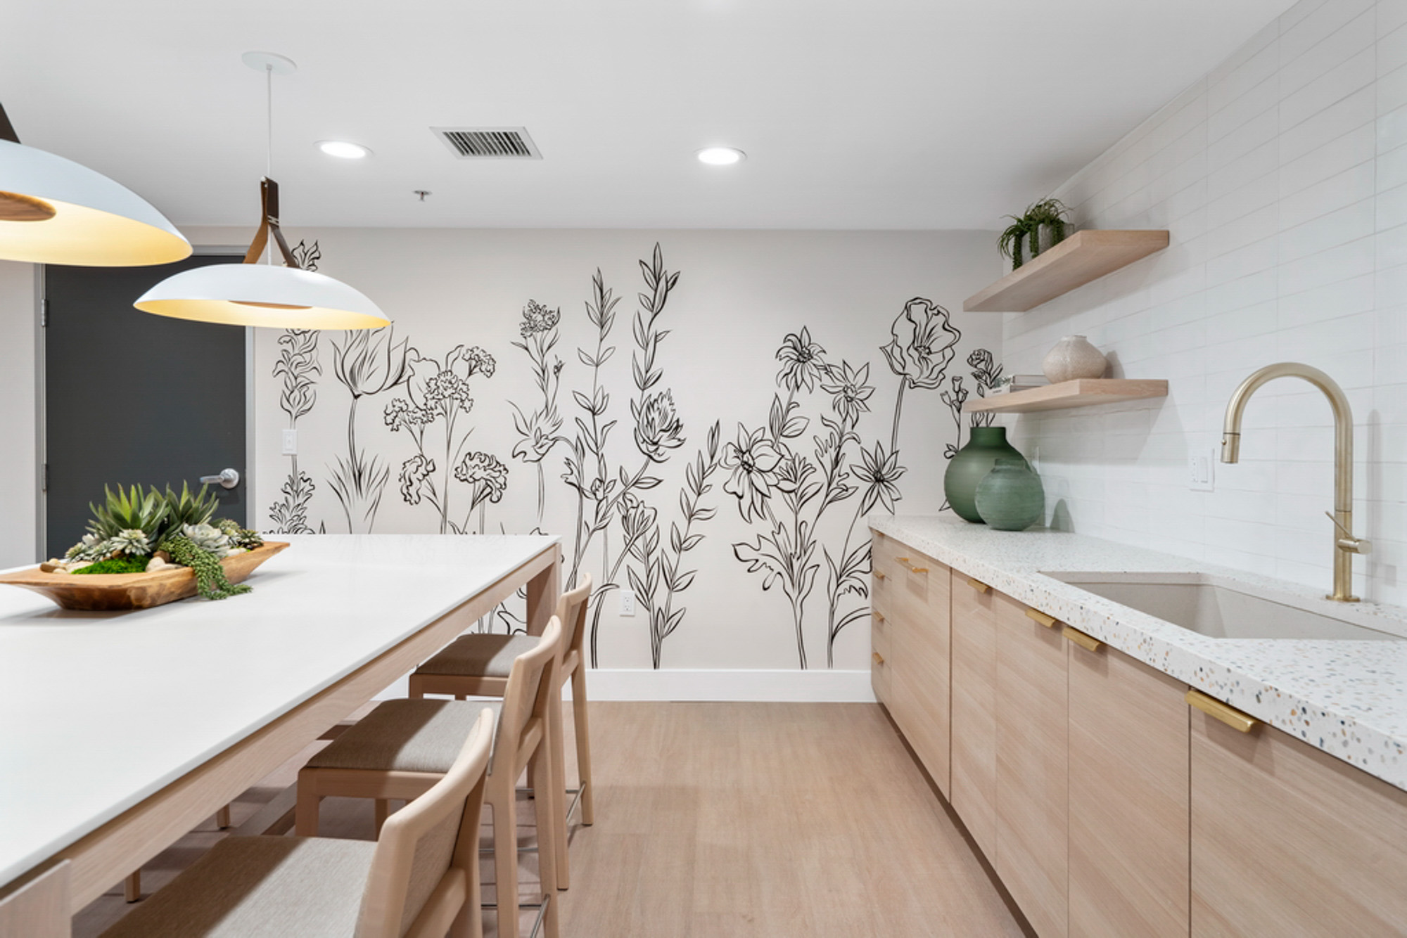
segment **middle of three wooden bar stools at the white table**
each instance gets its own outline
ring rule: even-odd
[[[550,792],[554,783],[553,750],[546,740],[554,700],[561,710],[557,699],[561,622],[553,616],[542,636],[532,641],[533,647],[514,660],[502,702],[386,700],[312,757],[298,772],[297,834],[318,833],[318,803],[328,796],[376,799],[378,824],[391,799],[414,804],[412,799],[429,790],[449,769],[476,714],[487,706],[498,719],[484,782],[484,802],[494,818],[498,935],[518,938],[515,786],[525,768],[535,790]],[[556,825],[561,824],[561,817],[547,800],[536,818],[543,890],[540,918],[547,938],[557,938],[557,907],[552,900],[557,893]]]

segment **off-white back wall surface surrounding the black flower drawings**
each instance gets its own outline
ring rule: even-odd
[[[414,505],[402,494],[402,467],[419,450],[412,430],[393,430],[386,413],[395,399],[414,404],[415,398],[408,395],[407,387],[422,394],[419,385],[426,373],[439,370],[452,349],[480,346],[494,357],[495,370],[491,377],[470,377],[473,408],[457,413],[452,449],[460,446],[459,436],[471,428],[473,433],[463,440],[464,451],[490,453],[507,467],[508,488],[501,501],[483,505],[485,529],[512,533],[542,527],[560,533],[566,539],[568,568],[580,555],[584,558],[582,568],[592,571],[598,585],[613,582],[620,586],[632,585],[632,571],[643,577],[649,564],[643,557],[626,557],[622,563],[625,537],[619,513],[611,516],[609,527],[578,550],[574,537],[578,501],[574,489],[563,481],[564,458],[573,442],[582,437],[575,420],[585,416],[585,411],[575,394],[590,395],[592,387],[591,368],[582,363],[578,349],[588,356],[595,352],[595,330],[587,318],[585,304],[592,298],[592,276],[599,269],[606,287],[619,298],[608,342],[615,353],[601,368],[602,390],[609,394],[602,422],[616,422],[606,446],[608,478],[619,484],[622,470],[633,475],[644,465],[633,437],[639,422],[632,402],[640,398],[633,373],[633,360],[639,354],[633,322],[642,308],[637,294],[646,290],[642,260],[650,263],[654,245],[661,246],[664,267],[680,276],[658,319],[658,326],[668,335],[660,340],[656,360],[663,377],[650,394],[670,390],[685,442],[678,449],[666,450],[664,461],[647,467],[647,475],[661,480],[658,485],[637,491],[646,506],[657,512],[653,533],[660,543],[654,555],[673,555],[671,525],[681,518],[681,495],[688,488],[685,465],[706,450],[708,429],[715,422],[720,426],[718,456],[722,464],[712,471],[709,488],[698,502],[715,515],[699,519],[689,532],[702,534],[702,540],[687,551],[678,572],[681,577],[691,570],[698,574],[687,589],[675,592],[670,600],[671,610],[684,606],[688,612],[663,641],[660,654],[661,667],[695,672],[750,669],[775,675],[778,671],[799,669],[792,603],[784,595],[785,578],[770,582],[764,570],[750,572],[750,560],[739,557],[749,555],[760,536],[774,533],[772,516],[787,537],[796,536],[782,491],[787,482],[778,467],[765,467],[771,498],[761,518],[744,519],[741,506],[746,503],[750,509],[753,502],[737,496],[739,492],[747,494],[747,488],[740,484],[739,463],[732,458],[736,449],[729,450],[739,446],[740,433],[770,437],[767,428],[774,401],[778,395],[782,401],[794,397],[798,404],[795,416],[805,420],[805,429],[796,423],[798,432],[784,440],[785,447],[810,464],[817,463],[815,437],[827,435],[822,418],[836,419],[839,412],[833,395],[822,383],[801,387],[795,395],[779,387],[778,373],[784,363],[777,354],[784,338],[808,329],[809,340],[825,349],[829,366],[839,368],[846,361],[855,370],[868,368],[862,374],[871,388],[864,401],[868,411],[857,413],[855,436],[847,437],[843,444],[840,468],[846,473],[846,488],[837,491],[843,498],[823,512],[819,525],[813,520],[819,501],[813,499],[801,512],[806,519],[801,540],[812,548],[801,561],[801,567],[812,568],[801,578],[802,588],[810,588],[801,627],[808,668],[825,671],[829,664],[830,609],[825,551],[837,557],[847,543],[848,550],[857,546],[862,550],[868,543],[868,530],[858,515],[870,485],[854,467],[862,465],[861,447],[872,453],[879,444],[888,456],[895,439],[893,409],[900,378],[886,363],[881,346],[891,340],[895,319],[902,316],[912,298],[924,297],[957,311],[964,297],[998,276],[998,257],[989,232],[293,229],[291,233],[295,242],[315,239],[322,253],[319,270],[355,284],[394,318],[397,343],[408,339],[419,356],[438,360],[435,366],[418,366],[409,385],[370,394],[357,405],[356,447],[364,450],[369,460],[376,457],[378,468],[390,474],[373,530],[440,530],[440,516],[431,492],[422,491],[419,503]],[[194,235],[222,243],[238,240],[231,232]],[[564,439],[550,447],[542,463],[545,506],[540,515],[537,464],[522,457],[522,435],[515,428],[514,411],[516,404],[523,415],[530,415],[543,404],[529,356],[512,345],[523,340],[521,325],[529,301],[561,312],[560,322],[545,335],[559,339],[550,352],[553,361],[561,361],[561,371],[554,378],[560,381],[556,408],[561,425],[554,435]],[[951,360],[946,366],[943,385],[905,391],[898,432],[898,464],[906,468],[898,482],[902,512],[938,510],[943,502],[944,447],[957,442],[957,423],[941,394],[951,391],[954,378],[974,388],[968,356],[978,347],[995,352],[1000,338],[1000,319],[996,316],[954,312],[951,323],[961,330],[961,339],[947,353]],[[940,338],[943,335],[938,333]],[[283,498],[280,487],[293,468],[290,457],[280,454],[281,430],[291,422],[280,405],[286,381],[273,373],[281,338],[286,338],[284,333],[270,330],[260,332],[256,339],[257,481],[250,516],[267,529],[280,526],[270,518],[269,509]],[[345,340],[343,333],[318,338],[321,373],[308,375],[317,404],[297,420],[298,471],[307,473],[315,485],[308,502],[308,523],[312,529],[328,532],[349,529],[332,484],[338,460],[346,461],[350,451],[348,418],[352,397],[336,377],[333,364],[333,343]],[[747,429],[740,430],[740,425]],[[446,482],[445,426],[440,418],[425,429],[425,457],[435,463],[431,477],[433,496],[443,491]],[[452,453],[449,463],[457,461]],[[706,451],[704,463],[709,464]],[[594,465],[588,467],[591,477],[595,477]],[[817,471],[806,484],[820,477]],[[449,520],[463,525],[471,488],[453,475],[447,482],[453,499]],[[761,502],[758,508],[763,508]],[[590,510],[588,501],[588,516]],[[471,530],[478,530],[480,513],[471,513],[469,522]],[[356,513],[352,527],[367,530],[373,526]],[[860,579],[867,578],[861,575]],[[771,585],[765,592],[764,582]],[[663,586],[657,589],[661,603],[667,593]],[[613,593],[605,598],[601,608],[598,664],[612,669],[651,668],[654,658],[646,603],[642,602],[635,617],[616,615],[618,596]],[[865,608],[867,598],[854,593],[843,595],[837,602],[841,615]],[[840,631],[833,651],[834,669],[853,671],[855,686],[865,688],[870,643],[864,615]],[[657,686],[657,681],[650,683],[650,688]],[[654,695],[657,690],[623,688],[619,693]],[[805,692],[788,690],[788,695],[795,693]]]

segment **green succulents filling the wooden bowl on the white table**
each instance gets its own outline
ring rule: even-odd
[[[190,567],[196,585],[207,599],[224,599],[249,592],[225,578],[221,558],[263,546],[263,539],[228,518],[215,519],[219,499],[201,487],[180,494],[141,485],[114,492],[104,487],[106,501],[89,505],[93,519],[87,533],[62,560],[42,564],[45,572],[139,574],[166,567]]]

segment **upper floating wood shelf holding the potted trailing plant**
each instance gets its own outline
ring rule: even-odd
[[[1076,231],[962,304],[967,312],[1026,312],[1168,246],[1165,231]]]

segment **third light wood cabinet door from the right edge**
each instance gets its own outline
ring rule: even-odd
[[[1068,665],[1059,623],[996,619],[996,866],[1041,938],[1067,934]]]

